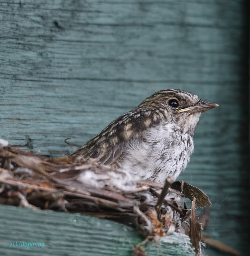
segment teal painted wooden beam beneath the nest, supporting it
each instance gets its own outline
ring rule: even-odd
[[[129,226],[89,215],[1,205],[0,218],[0,252],[4,256],[132,256],[133,245],[144,240]],[[21,242],[44,246],[27,248]],[[144,250],[152,256],[195,255],[189,237],[177,233],[148,243]]]

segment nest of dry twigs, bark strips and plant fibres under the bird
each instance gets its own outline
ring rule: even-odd
[[[203,208],[211,203],[186,182],[172,183],[170,177],[164,185],[139,180],[134,189],[124,191],[108,182],[103,185],[100,179],[102,185],[93,186],[80,182],[79,175],[119,173],[119,166],[104,166],[94,159],[49,159],[11,145],[0,147],[0,164],[1,204],[132,223],[150,239],[182,232],[190,236],[196,254],[200,253],[201,224],[196,221],[195,205]],[[191,208],[185,198],[192,201]]]

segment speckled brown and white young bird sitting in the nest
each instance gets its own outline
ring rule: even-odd
[[[187,167],[193,136],[203,112],[217,107],[180,89],[160,90],[112,121],[71,157],[93,158],[103,165],[118,163],[140,179],[173,181]]]

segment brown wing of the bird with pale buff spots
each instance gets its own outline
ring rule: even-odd
[[[115,119],[72,155],[95,158],[106,165],[121,160],[130,140],[142,139],[147,128],[157,125],[167,115],[164,108],[135,108]]]

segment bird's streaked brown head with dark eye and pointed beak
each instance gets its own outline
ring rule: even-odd
[[[138,107],[165,108],[173,122],[193,136],[201,114],[217,106],[217,103],[201,100],[191,92],[166,89],[146,98]]]

